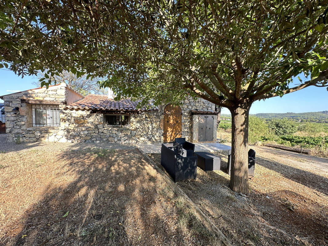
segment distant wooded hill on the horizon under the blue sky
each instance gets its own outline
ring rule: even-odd
[[[294,121],[309,121],[328,123],[328,111],[307,112],[307,113],[256,113],[252,114],[264,119],[291,119]],[[222,118],[231,119],[230,114],[221,114]]]

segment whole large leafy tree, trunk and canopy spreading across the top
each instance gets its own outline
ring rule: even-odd
[[[66,70],[105,77],[102,86],[118,97],[180,103],[190,93],[227,107],[230,187],[248,193],[252,103],[328,86],[327,6],[327,0],[4,0],[0,56],[19,75],[49,71],[43,84]]]

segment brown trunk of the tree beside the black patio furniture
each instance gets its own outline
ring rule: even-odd
[[[251,105],[243,104],[231,110],[232,150],[230,189],[248,194],[248,116]]]

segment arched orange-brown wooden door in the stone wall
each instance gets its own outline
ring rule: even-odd
[[[179,106],[168,104],[164,108],[163,142],[172,143],[182,133],[182,111]]]

